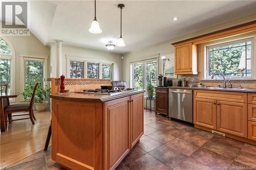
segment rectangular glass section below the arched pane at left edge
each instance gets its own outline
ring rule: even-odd
[[[8,83],[8,91],[11,87],[11,59],[0,58],[0,84]]]

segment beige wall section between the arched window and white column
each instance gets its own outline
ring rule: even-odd
[[[4,40],[11,43],[15,51],[15,91],[22,92],[20,87],[20,53],[32,55],[48,55],[50,50],[48,46],[43,45],[32,33],[30,36],[8,36],[3,37]],[[48,65],[50,60],[48,59]],[[49,70],[48,75],[49,76]],[[16,98],[16,103],[20,103],[20,96]]]

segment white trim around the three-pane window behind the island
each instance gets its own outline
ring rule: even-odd
[[[87,77],[87,63],[97,63],[99,64],[99,79],[102,79],[102,64],[109,64],[112,65],[112,78],[114,78],[114,63],[108,63],[108,62],[98,62],[86,58],[81,58],[81,57],[73,57],[73,56],[67,56],[66,55],[66,75],[68,78],[70,78],[70,61],[77,61],[77,62],[83,62],[83,79],[88,79]]]

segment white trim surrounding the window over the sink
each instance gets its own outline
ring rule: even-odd
[[[203,49],[204,49],[204,56],[203,56],[203,66],[201,67],[201,80],[211,80],[209,78],[208,72],[209,72],[209,68],[208,68],[208,64],[209,64],[209,57],[208,57],[208,48],[209,47],[216,47],[216,46],[220,46],[220,45],[227,45],[227,44],[233,44],[233,43],[237,43],[237,42],[243,42],[245,40],[251,40],[251,77],[243,77],[243,80],[251,80],[251,79],[256,79],[256,70],[254,69],[256,66],[256,60],[255,60],[255,49],[256,49],[256,34],[246,34],[246,35],[240,35],[240,36],[234,36],[234,37],[229,37],[229,38],[224,38],[221,40],[217,40],[214,42],[210,42],[210,43],[205,43],[202,45]],[[229,78],[228,78],[229,79]],[[230,79],[232,80],[241,80],[241,78],[239,77],[231,77]]]

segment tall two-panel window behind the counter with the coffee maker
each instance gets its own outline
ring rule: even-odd
[[[157,85],[157,60],[131,64],[132,86],[135,89],[146,89],[147,84]]]

